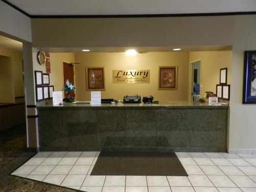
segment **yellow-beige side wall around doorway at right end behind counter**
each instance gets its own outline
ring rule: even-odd
[[[195,51],[189,53],[189,62],[201,59],[201,93],[216,93],[216,84],[220,84],[220,69],[228,68],[227,84],[231,84],[232,51]],[[232,88],[232,87],[231,87]]]

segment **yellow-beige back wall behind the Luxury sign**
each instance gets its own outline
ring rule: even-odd
[[[86,91],[86,67],[105,68],[105,91],[102,98],[122,100],[126,94],[154,95],[160,101],[187,101],[188,52],[149,52],[127,56],[125,53],[75,53],[76,98],[91,100],[91,91]],[[178,66],[178,90],[158,90],[158,66]],[[150,83],[113,83],[112,70],[150,70]]]

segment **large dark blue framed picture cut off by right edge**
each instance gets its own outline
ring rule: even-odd
[[[243,104],[256,103],[256,51],[244,52]]]

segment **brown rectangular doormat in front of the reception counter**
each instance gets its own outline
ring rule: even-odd
[[[91,175],[188,176],[175,153],[100,152]]]

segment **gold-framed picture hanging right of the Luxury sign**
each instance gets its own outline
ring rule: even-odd
[[[178,66],[158,69],[158,90],[177,90]]]

